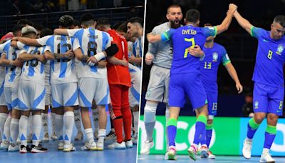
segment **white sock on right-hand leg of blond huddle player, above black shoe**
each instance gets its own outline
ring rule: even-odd
[[[41,115],[33,115],[33,145],[38,146],[41,134]]]

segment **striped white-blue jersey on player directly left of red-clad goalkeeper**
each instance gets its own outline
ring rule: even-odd
[[[111,45],[111,38],[107,32],[91,27],[88,29],[68,29],[68,35],[75,36],[78,39],[83,55],[86,56],[94,56]],[[107,69],[106,67],[89,66],[85,62],[79,61],[78,78],[82,77],[107,78]]]

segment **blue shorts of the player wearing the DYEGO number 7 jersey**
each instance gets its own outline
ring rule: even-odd
[[[169,106],[184,107],[185,95],[190,98],[193,109],[207,104],[207,96],[199,74],[172,74],[170,76]]]

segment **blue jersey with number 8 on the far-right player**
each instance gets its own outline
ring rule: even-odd
[[[251,35],[258,39],[252,80],[272,87],[284,87],[285,36],[274,40],[270,31],[254,26]]]

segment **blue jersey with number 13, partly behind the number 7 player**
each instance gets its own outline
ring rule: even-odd
[[[201,79],[206,92],[217,92],[217,71],[219,64],[229,64],[231,60],[224,46],[214,43],[212,48],[203,48],[204,59],[200,61]]]

